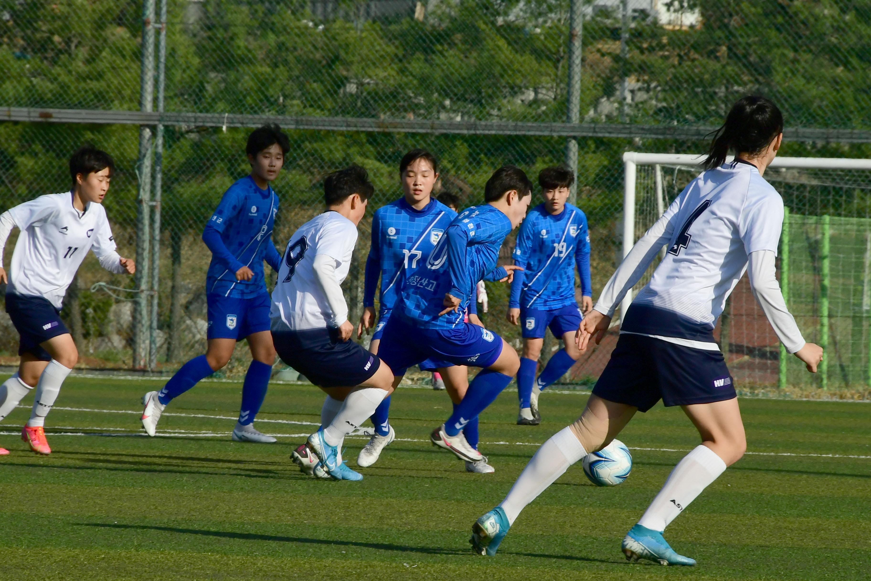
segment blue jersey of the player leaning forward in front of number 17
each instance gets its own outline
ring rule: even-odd
[[[511,222],[493,206],[464,210],[450,223],[429,260],[422,262],[402,286],[395,313],[422,328],[449,329],[462,323],[475,300],[478,280],[500,280],[508,273],[496,267],[499,247]],[[458,312],[439,316],[444,295],[460,299]]]

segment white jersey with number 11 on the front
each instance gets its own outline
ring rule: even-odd
[[[119,263],[114,264],[119,257],[102,205],[90,202],[79,212],[71,192],[50,193],[10,208],[9,214],[21,233],[12,253],[7,293],[42,296],[60,308],[91,249],[104,267],[122,271]]]

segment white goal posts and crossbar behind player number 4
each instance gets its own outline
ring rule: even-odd
[[[705,154],[692,153],[644,153],[625,152],[624,164],[624,190],[623,190],[623,258],[635,245],[635,190],[636,169],[638,166],[654,166],[653,181],[656,189],[657,212],[659,215],[665,212],[665,196],[663,195],[662,172],[659,166],[701,166],[706,159]],[[732,157],[728,160],[731,160]],[[832,170],[871,170],[871,159],[849,158],[774,158],[769,167],[795,167],[803,169],[832,169]],[[620,303],[620,322],[626,309],[632,302],[632,290],[630,289]]]

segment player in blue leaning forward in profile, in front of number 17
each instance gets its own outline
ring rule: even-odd
[[[428,358],[483,368],[463,401],[430,439],[469,462],[483,458],[463,428],[496,399],[517,373],[514,348],[492,331],[464,321],[478,280],[510,280],[516,266],[497,267],[499,247],[530,205],[532,184],[523,170],[503,166],[484,188],[483,206],[451,222],[429,255],[408,276],[381,335],[379,357],[398,385],[405,371]]]

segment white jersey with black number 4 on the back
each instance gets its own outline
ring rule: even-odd
[[[783,200],[756,166],[733,162],[702,172],[645,234],[655,240],[641,245],[638,253],[644,255],[627,256],[633,272],[615,273],[596,310],[613,314],[667,244],[665,259],[632,301],[621,331],[716,348],[713,328],[746,271],[748,254],[777,253],[782,224]]]

